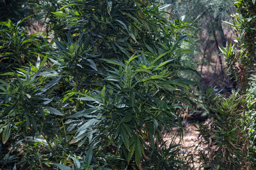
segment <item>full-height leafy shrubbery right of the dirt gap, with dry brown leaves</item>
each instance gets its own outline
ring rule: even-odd
[[[220,50],[227,61],[227,71],[239,83],[229,97],[216,97],[212,120],[201,125],[206,140],[205,167],[221,169],[255,168],[255,1],[236,1],[237,13],[230,24],[236,29],[234,43]],[[207,127],[208,126],[208,127]],[[205,131],[205,127],[207,130]],[[237,160],[236,160],[237,159]]]

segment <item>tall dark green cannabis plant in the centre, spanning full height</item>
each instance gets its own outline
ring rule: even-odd
[[[66,28],[52,29],[52,62],[72,114],[71,143],[94,144],[95,157],[113,169],[181,166],[178,148],[164,145],[161,132],[180,127],[174,112],[189,104],[192,82],[179,77],[193,70],[181,64],[191,52],[180,48],[188,25],[141,1],[73,1],[52,14]]]

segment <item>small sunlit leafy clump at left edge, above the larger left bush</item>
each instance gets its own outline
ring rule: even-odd
[[[10,71],[13,67],[20,67],[28,62],[36,61],[38,55],[45,56],[45,51],[51,51],[44,34],[35,33],[28,35],[27,30],[20,24],[10,19],[0,23],[0,71]]]

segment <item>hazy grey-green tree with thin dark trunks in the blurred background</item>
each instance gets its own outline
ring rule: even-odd
[[[170,11],[174,16],[185,16],[185,20],[192,22],[197,28],[196,37],[196,57],[198,71],[202,74],[203,83],[209,85],[230,86],[230,77],[225,74],[225,62],[221,57],[218,46],[226,46],[230,41],[234,31],[222,21],[231,19],[235,6],[232,1],[163,1],[170,3]],[[219,77],[212,80],[211,77]]]

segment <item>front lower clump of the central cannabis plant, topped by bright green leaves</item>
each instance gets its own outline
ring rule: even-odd
[[[81,141],[81,146],[87,139],[89,143],[100,140],[99,152],[111,149],[128,163],[136,162],[138,167],[141,159],[145,159],[143,167],[147,167],[148,162],[154,164],[152,153],[164,144],[162,131],[170,131],[172,126],[181,127],[173,122],[178,118],[174,112],[175,108],[184,107],[178,103],[186,103],[182,97],[188,96],[184,92],[191,83],[177,76],[177,68],[181,66],[175,64],[175,59],[163,61],[164,55],[167,53],[156,58],[134,55],[124,63],[102,59],[109,65],[106,66],[105,87],[90,96],[84,94],[77,98],[86,101],[90,108],[69,117],[80,120],[70,125],[80,124],[72,143]],[[176,166],[175,155],[172,158],[166,162],[168,168]]]

